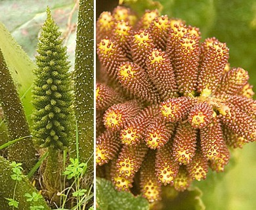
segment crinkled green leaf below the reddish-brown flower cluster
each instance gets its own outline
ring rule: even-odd
[[[149,209],[146,199],[129,192],[117,192],[109,180],[100,178],[96,179],[96,202],[99,210]]]

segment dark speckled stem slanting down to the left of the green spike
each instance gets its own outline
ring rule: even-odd
[[[8,137],[10,140],[28,137],[30,136],[28,121],[1,49],[0,75],[0,101],[6,120]],[[8,156],[10,160],[24,163],[26,170],[30,169],[35,162],[35,148],[32,138],[28,137],[26,140],[11,144]]]

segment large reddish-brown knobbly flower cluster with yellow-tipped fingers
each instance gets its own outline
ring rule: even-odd
[[[162,184],[186,190],[209,168],[224,171],[228,148],[255,141],[249,76],[230,68],[225,43],[125,7],[103,12],[96,33],[96,164],[117,190],[139,181],[145,198],[160,200]]]

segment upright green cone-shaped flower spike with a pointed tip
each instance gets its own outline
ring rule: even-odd
[[[60,31],[47,9],[42,26],[34,71],[33,136],[43,147],[63,149],[74,131],[72,95],[66,47],[62,46]]]

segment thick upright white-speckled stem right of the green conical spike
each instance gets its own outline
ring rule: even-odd
[[[81,162],[86,162],[91,154],[93,154],[93,6],[93,0],[81,0],[79,2],[77,23],[74,105],[79,133],[79,158]],[[93,167],[93,159],[89,161],[88,165]]]

